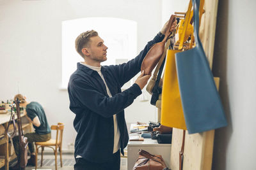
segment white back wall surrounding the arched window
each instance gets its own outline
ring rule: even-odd
[[[67,90],[59,89],[61,22],[83,17],[135,20],[140,52],[161,29],[161,1],[0,0],[0,100],[12,99],[19,87],[29,101],[41,103],[50,125],[65,124],[63,148],[74,143],[76,132]],[[136,99],[125,117],[127,122],[156,121],[156,110]]]

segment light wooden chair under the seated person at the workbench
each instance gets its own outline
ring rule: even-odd
[[[60,166],[62,167],[62,158],[61,158],[61,144],[62,144],[62,136],[63,136],[63,129],[64,129],[64,124],[58,123],[58,125],[52,125],[51,130],[56,130],[56,139],[50,139],[49,141],[44,141],[44,142],[35,142],[36,145],[36,166],[37,167],[37,154],[39,148],[41,148],[41,167],[43,164],[43,154],[44,154],[44,147],[49,147],[53,149],[54,155],[55,155],[55,169],[57,170],[57,150],[59,148],[60,152]],[[55,146],[55,148],[54,148]]]

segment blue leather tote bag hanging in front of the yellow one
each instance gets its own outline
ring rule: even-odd
[[[175,54],[184,118],[189,134],[227,125],[223,106],[200,41],[198,9],[193,0],[195,48]]]

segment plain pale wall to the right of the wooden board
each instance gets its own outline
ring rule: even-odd
[[[228,127],[218,129],[212,169],[255,169],[256,1],[219,0],[213,71]]]

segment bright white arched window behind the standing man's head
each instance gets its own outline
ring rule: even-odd
[[[67,89],[70,75],[76,70],[77,62],[83,58],[76,52],[75,39],[88,30],[99,33],[108,46],[108,60],[102,65],[122,64],[137,54],[137,22],[120,18],[79,18],[62,22],[62,83]],[[131,83],[126,86],[129,87]]]

